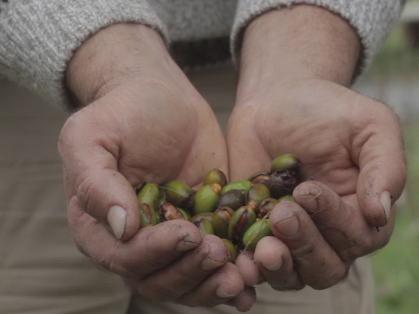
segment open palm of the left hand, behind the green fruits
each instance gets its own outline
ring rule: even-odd
[[[205,100],[176,83],[146,92],[141,84],[124,84],[76,113],[73,137],[112,154],[112,168],[132,186],[175,178],[194,185],[212,167],[226,170],[225,141]]]

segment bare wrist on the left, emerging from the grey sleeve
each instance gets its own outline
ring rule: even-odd
[[[170,61],[163,39],[142,24],[115,24],[98,31],[68,63],[66,86],[87,105],[112,88]]]

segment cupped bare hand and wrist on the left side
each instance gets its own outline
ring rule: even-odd
[[[227,172],[216,118],[151,29],[117,24],[73,57],[68,87],[84,105],[61,130],[68,220],[82,253],[145,297],[188,306],[228,303],[246,311],[254,292],[226,246],[172,220],[139,230],[134,187],[213,167]]]

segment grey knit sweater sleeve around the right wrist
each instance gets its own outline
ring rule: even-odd
[[[239,0],[231,33],[231,51],[237,60],[244,29],[268,10],[281,9],[294,4],[321,6],[343,17],[358,33],[362,45],[360,68],[362,71],[372,60],[385,36],[401,15],[406,0]]]

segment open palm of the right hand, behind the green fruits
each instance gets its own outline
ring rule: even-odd
[[[246,177],[268,169],[279,154],[292,153],[302,160],[304,177],[339,195],[355,193],[362,144],[355,127],[366,124],[356,107],[359,97],[330,82],[303,81],[264,94],[255,108],[238,107],[228,133],[230,171]]]

